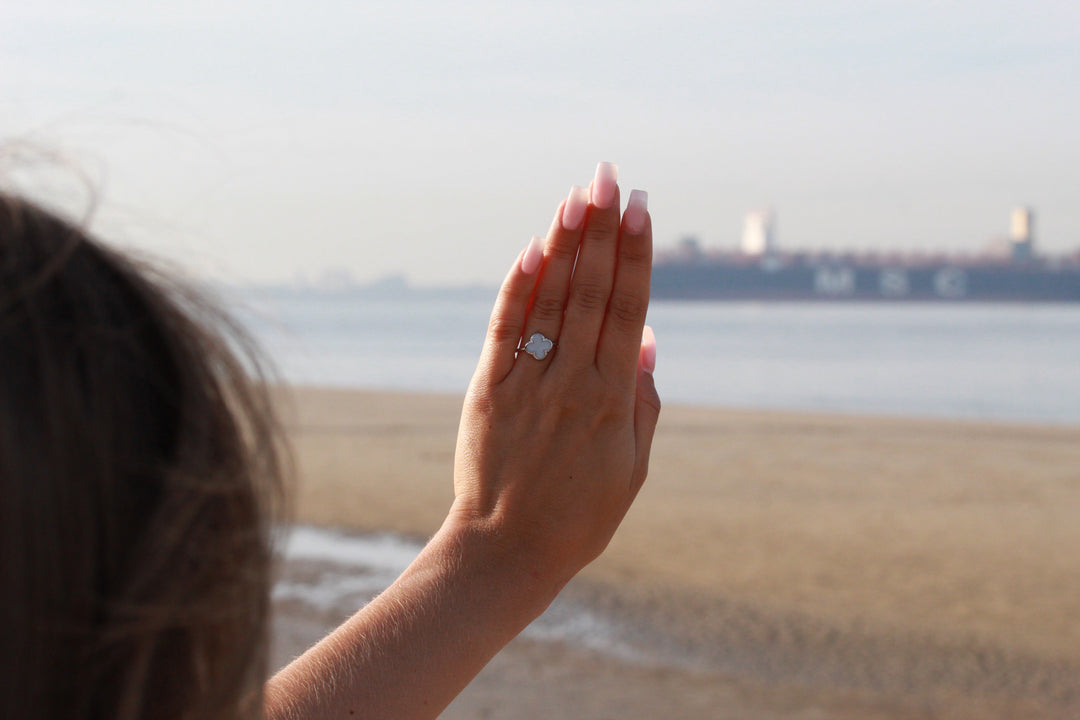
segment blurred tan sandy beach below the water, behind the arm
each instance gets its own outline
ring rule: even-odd
[[[460,397],[281,404],[297,521],[438,527]],[[1080,717],[1080,429],[667,406],[564,595],[636,652],[518,639],[443,717]],[[279,603],[274,662],[345,612]]]

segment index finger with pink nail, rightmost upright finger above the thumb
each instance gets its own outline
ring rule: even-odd
[[[605,375],[633,383],[642,330],[649,309],[652,276],[652,218],[649,194],[632,190],[619,233],[615,283],[596,351],[596,366]]]

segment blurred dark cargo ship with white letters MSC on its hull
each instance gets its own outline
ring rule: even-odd
[[[770,210],[746,216],[738,250],[693,237],[658,253],[652,297],[679,300],[1080,302],[1080,252],[1035,252],[1034,215],[1016,208],[1011,236],[983,254],[810,253],[774,247]]]

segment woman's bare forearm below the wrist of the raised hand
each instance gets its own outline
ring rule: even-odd
[[[434,718],[558,589],[451,515],[393,585],[267,683],[266,717]]]

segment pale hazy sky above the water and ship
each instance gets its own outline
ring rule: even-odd
[[[496,284],[600,160],[658,247],[1072,250],[1078,127],[1072,0],[0,3],[0,180],[230,282]]]

